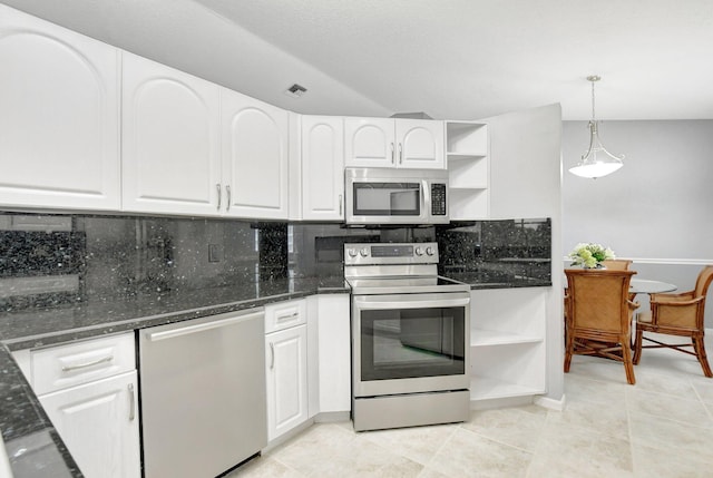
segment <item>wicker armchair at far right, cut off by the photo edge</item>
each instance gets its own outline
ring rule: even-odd
[[[701,363],[703,374],[709,378],[713,377],[703,343],[705,295],[712,281],[713,265],[706,265],[699,274],[693,291],[678,294],[651,294],[651,311],[641,312],[636,318],[634,363],[638,363],[642,359],[642,349],[670,348],[694,355]],[[691,343],[664,343],[644,336],[644,332],[687,336],[691,339]],[[655,345],[643,345],[643,340],[653,342]],[[693,351],[682,349],[683,347],[691,347]]]

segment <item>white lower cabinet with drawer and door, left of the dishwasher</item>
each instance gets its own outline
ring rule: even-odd
[[[141,476],[133,332],[13,355],[84,476]]]

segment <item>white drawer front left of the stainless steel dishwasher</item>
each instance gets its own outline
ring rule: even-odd
[[[135,370],[134,342],[131,332],[32,351],[32,389],[42,394]]]

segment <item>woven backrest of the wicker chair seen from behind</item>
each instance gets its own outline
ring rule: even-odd
[[[609,334],[629,331],[628,287],[636,271],[566,269],[565,274],[570,326]]]

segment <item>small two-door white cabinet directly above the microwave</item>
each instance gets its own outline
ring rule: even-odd
[[[442,169],[443,123],[345,118],[344,149],[346,166]]]

